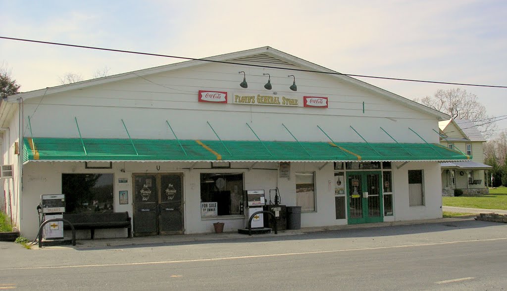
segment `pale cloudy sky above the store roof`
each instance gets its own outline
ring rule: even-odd
[[[0,36],[202,58],[263,46],[344,74],[507,86],[507,2],[10,1]],[[0,39],[0,63],[26,92],[181,60]],[[414,99],[438,89],[474,93],[506,115],[507,88],[357,78]],[[497,122],[496,133],[507,129]]]

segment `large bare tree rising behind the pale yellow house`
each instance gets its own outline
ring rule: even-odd
[[[496,128],[495,119],[486,114],[486,107],[478,99],[477,95],[464,89],[440,89],[433,96],[422,98],[420,103],[447,113],[454,119],[471,120],[484,137],[488,138]]]

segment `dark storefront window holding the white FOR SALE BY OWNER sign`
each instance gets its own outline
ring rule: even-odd
[[[216,215],[243,214],[243,174],[242,173],[201,173],[201,207],[206,204],[204,216],[213,216],[214,203]]]

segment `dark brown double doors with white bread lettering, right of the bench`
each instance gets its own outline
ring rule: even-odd
[[[134,174],[134,235],[184,232],[183,174]]]

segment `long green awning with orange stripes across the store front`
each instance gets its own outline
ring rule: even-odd
[[[460,161],[431,143],[25,138],[23,161]]]

